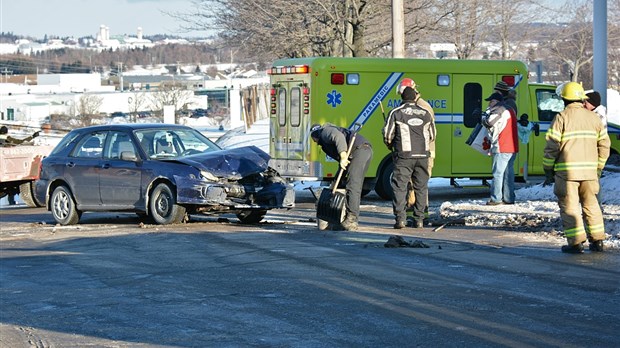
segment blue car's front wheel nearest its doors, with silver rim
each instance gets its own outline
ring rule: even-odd
[[[185,217],[185,207],[176,203],[170,186],[159,184],[155,186],[149,197],[149,215],[156,224],[176,224]]]

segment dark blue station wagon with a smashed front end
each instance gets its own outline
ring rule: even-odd
[[[187,214],[233,213],[260,222],[292,208],[295,191],[255,146],[221,149],[197,130],[171,124],[75,129],[43,159],[35,199],[57,223],[85,211],[135,212],[157,224]]]

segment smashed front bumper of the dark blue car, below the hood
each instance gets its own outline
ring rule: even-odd
[[[295,190],[282,182],[268,182],[261,187],[239,183],[219,183],[204,179],[174,176],[177,203],[234,209],[278,209],[295,206]]]

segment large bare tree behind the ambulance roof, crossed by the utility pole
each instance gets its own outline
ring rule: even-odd
[[[263,60],[279,57],[368,56],[391,42],[391,0],[192,0],[195,11],[174,17],[188,30],[214,30]],[[412,0],[405,30],[428,28],[445,15],[439,0]]]

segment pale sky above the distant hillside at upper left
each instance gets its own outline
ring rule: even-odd
[[[204,37],[205,32],[185,33],[178,19],[164,12],[188,13],[190,0],[0,0],[0,32],[33,36],[96,37],[100,25],[110,36],[155,34]]]

